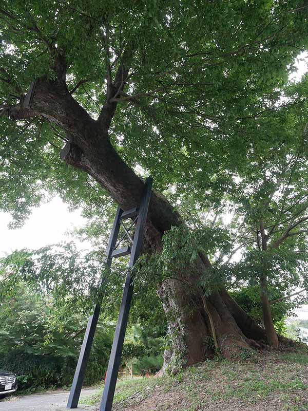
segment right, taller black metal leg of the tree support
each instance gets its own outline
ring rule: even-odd
[[[136,232],[134,234],[133,245],[131,248],[130,260],[128,265],[129,268],[132,268],[134,263],[136,263],[136,260],[139,257],[141,251],[145,221],[151,198],[152,181],[152,178],[148,177],[145,182],[145,189],[140,204]],[[129,270],[125,281],[117,328],[115,328],[100,411],[111,411],[112,408],[115,384],[117,384],[118,372],[121,364],[122,348],[128,322],[128,314],[130,309],[132,292],[133,282],[131,270]]]

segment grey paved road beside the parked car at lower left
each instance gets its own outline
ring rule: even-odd
[[[81,391],[81,398],[95,392],[97,392],[96,388],[85,388]],[[69,391],[31,394],[24,397],[7,397],[6,400],[0,400],[0,411],[54,411],[57,407],[66,406],[68,396]]]

